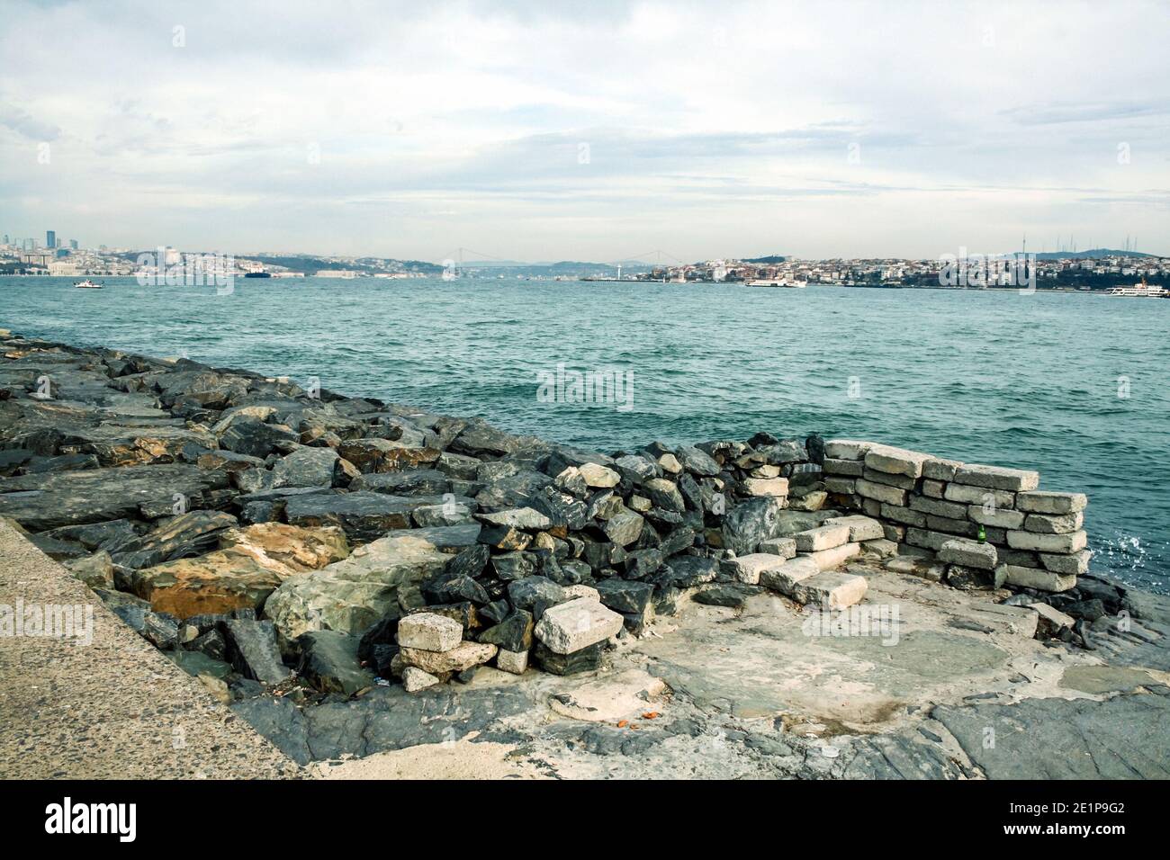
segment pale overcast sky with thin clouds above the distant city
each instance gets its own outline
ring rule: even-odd
[[[0,233],[441,261],[1170,254],[1170,2],[23,2]]]

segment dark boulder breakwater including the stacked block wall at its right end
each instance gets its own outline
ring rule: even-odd
[[[583,450],[185,359],[0,350],[0,516],[225,700],[587,672],[684,599],[853,605],[854,562],[1083,597],[1083,497],[1034,473],[818,435]]]

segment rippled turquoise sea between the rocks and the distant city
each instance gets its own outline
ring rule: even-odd
[[[1170,591],[1170,302],[498,280],[0,277],[0,326],[482,415],[603,450],[819,432],[1035,468],[1089,495],[1094,567]],[[615,404],[543,373],[632,372]]]

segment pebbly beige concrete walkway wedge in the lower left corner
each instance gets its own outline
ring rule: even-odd
[[[91,605],[89,645],[0,639],[0,773],[9,779],[297,777],[300,769],[85,585],[0,523],[0,604]]]

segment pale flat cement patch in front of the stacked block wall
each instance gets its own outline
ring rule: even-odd
[[[923,591],[941,596],[937,605],[920,603]],[[814,722],[872,731],[914,706],[959,702],[997,683],[1011,687],[1009,648],[1045,652],[1031,638],[1035,624],[1028,628],[1027,618],[1034,613],[1026,608],[973,614],[969,607],[982,607],[985,599],[892,573],[870,577],[868,600],[900,607],[896,642],[881,635],[811,635],[806,613],[762,594],[749,598],[738,618],[729,608],[688,603],[677,629],[640,641],[636,653],[651,659],[652,674],[701,709],[742,718],[798,711]],[[993,633],[951,628],[950,618],[976,618]]]

